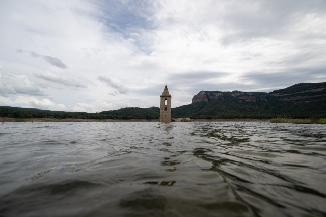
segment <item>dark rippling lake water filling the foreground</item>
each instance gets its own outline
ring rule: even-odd
[[[325,216],[326,125],[0,125],[0,216]]]

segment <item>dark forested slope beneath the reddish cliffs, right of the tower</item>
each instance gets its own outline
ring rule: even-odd
[[[185,105],[185,110],[175,108],[173,117],[189,117],[191,119],[220,119],[220,118],[324,118],[326,108],[324,101],[295,104],[293,102],[280,102],[278,105],[270,102],[235,102],[225,99],[224,102],[210,100],[209,102],[195,102]],[[175,112],[174,112],[175,111]],[[193,113],[189,111],[194,111]]]

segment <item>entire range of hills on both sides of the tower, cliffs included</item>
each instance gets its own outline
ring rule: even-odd
[[[86,113],[0,106],[0,117],[11,118],[158,119],[159,115],[158,107]],[[326,82],[301,83],[269,93],[201,91],[193,97],[192,104],[172,108],[172,118],[182,117],[325,118]]]

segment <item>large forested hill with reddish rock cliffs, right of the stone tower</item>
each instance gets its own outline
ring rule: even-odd
[[[201,91],[192,104],[175,108],[173,116],[204,118],[323,118],[326,82],[301,83],[264,92]]]

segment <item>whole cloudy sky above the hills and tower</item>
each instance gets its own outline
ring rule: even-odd
[[[0,0],[0,106],[172,107],[326,81],[324,0]]]

